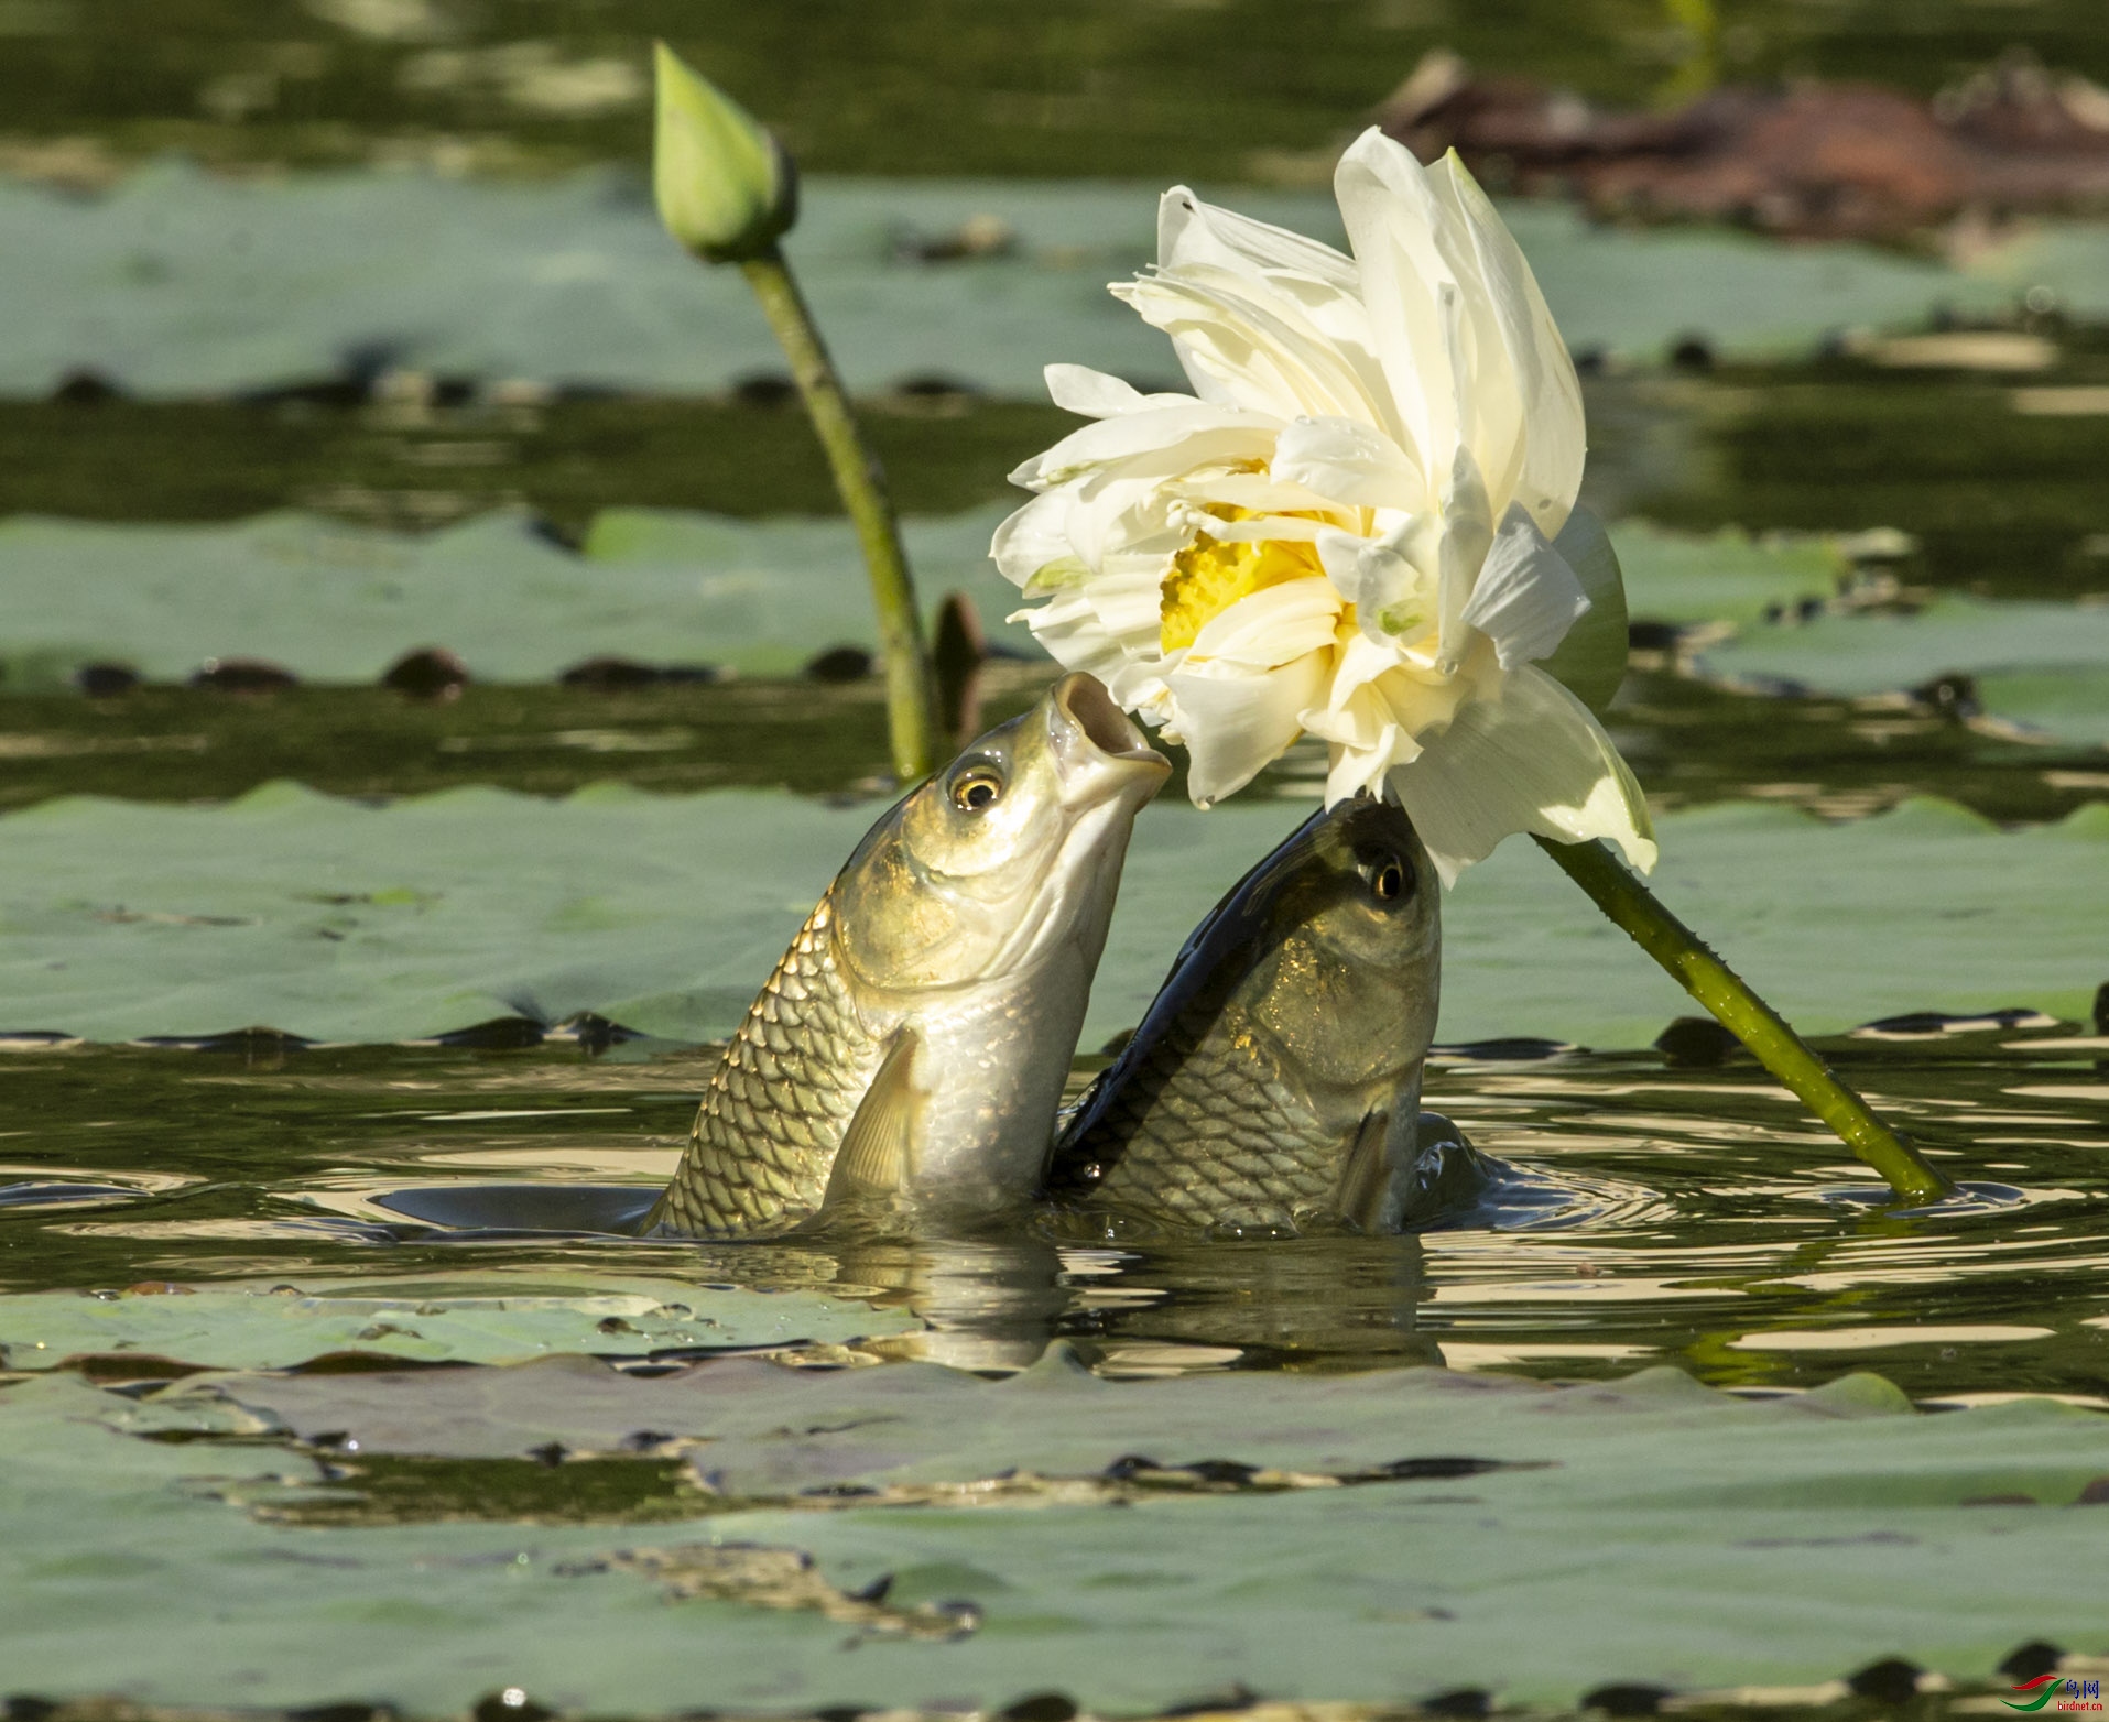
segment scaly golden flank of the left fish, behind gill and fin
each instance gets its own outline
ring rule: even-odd
[[[884,1054],[841,978],[829,892],[725,1045],[647,1229],[757,1235],[818,1210]]]

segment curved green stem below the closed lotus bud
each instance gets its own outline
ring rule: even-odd
[[[892,733],[894,776],[911,784],[928,776],[936,733],[936,698],[930,683],[930,653],[924,647],[915,582],[901,550],[901,523],[886,495],[886,472],[865,447],[841,392],[841,377],[827,356],[820,329],[806,297],[791,278],[791,266],[774,244],[763,257],[740,263],[761,310],[791,360],[791,375],[806,400],[812,428],[820,434],[827,464],[835,474],[841,506],[850,510],[856,542],[871,571],[871,603],[879,611],[879,641],[886,651],[886,719]]]

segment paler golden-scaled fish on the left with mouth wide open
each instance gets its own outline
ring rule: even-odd
[[[725,1048],[645,1229],[1031,1195],[1135,814],[1170,765],[1063,677],[856,845]]]

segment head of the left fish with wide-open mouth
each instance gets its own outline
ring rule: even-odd
[[[1080,942],[1088,984],[1135,814],[1168,776],[1095,677],[1063,677],[858,845],[835,881],[856,980],[886,993],[968,989]]]

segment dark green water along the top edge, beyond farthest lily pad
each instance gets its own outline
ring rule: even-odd
[[[707,21],[681,0],[15,0],[0,91],[8,131],[70,139],[51,156],[76,173],[95,167],[82,137],[230,162],[517,171],[639,160],[639,44],[664,36],[808,167],[1251,179],[1320,152],[1428,48],[1637,103],[1691,57],[1681,23],[1708,15],[1731,76],[1930,95],[2016,38],[2109,74],[2090,0],[896,0],[884,15],[810,0]]]

